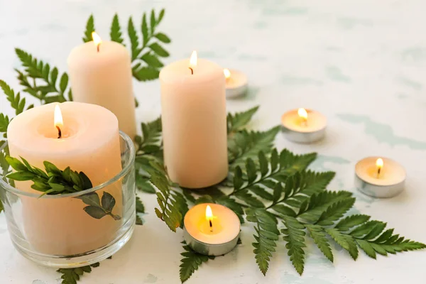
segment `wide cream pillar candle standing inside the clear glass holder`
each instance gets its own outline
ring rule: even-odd
[[[54,124],[54,109],[59,106],[63,125],[61,138]],[[121,171],[119,124],[116,116],[103,107],[79,102],[45,104],[16,116],[7,129],[11,157],[25,158],[44,169],[47,160],[64,170],[84,172],[97,186]],[[41,195],[33,190],[33,182],[16,182],[25,192]],[[121,185],[121,184],[120,184]],[[103,191],[116,200],[114,214],[123,216],[121,186],[111,184]],[[40,253],[75,255],[99,249],[113,241],[121,220],[110,216],[94,219],[84,212],[82,200],[74,197],[37,199],[21,196],[23,231]]]

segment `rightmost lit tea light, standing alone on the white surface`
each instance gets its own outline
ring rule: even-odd
[[[372,197],[393,197],[404,190],[405,170],[389,158],[368,157],[355,165],[356,187]]]

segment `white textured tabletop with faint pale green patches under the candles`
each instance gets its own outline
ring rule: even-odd
[[[408,173],[406,191],[391,200],[372,200],[355,192],[356,210],[388,222],[410,239],[426,242],[426,3],[422,0],[220,0],[220,1],[0,1],[0,77],[18,87],[14,47],[66,69],[71,48],[81,43],[85,21],[96,18],[108,36],[115,12],[166,8],[161,30],[173,40],[168,62],[191,50],[249,77],[246,99],[228,102],[229,111],[261,104],[256,129],[279,124],[288,109],[316,109],[328,118],[327,138],[297,145],[278,136],[279,148],[317,151],[312,168],[334,170],[331,190],[354,191],[354,165],[368,155],[398,160]],[[139,25],[139,24],[137,24]],[[141,107],[138,119],[160,113],[158,81],[135,84]],[[4,97],[0,111],[12,114]],[[142,195],[149,212],[146,225],[112,260],[84,275],[82,283],[179,283],[182,232],[171,233],[155,214],[155,197]],[[283,245],[268,275],[253,258],[252,230],[245,225],[243,244],[209,262],[187,281],[192,283],[366,284],[426,283],[426,251],[374,261],[364,253],[354,262],[334,248],[329,263],[312,244],[305,273],[298,276]],[[53,269],[36,266],[11,244],[0,215],[0,283],[59,283]]]

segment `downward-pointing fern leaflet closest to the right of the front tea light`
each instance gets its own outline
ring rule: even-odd
[[[280,231],[277,228],[277,220],[265,209],[247,209],[247,221],[256,223],[254,229],[256,234],[253,243],[256,263],[263,275],[266,275],[271,260],[272,253],[275,251],[276,241]]]

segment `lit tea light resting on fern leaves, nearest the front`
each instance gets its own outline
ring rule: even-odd
[[[234,249],[241,227],[231,209],[213,203],[192,207],[185,215],[184,225],[186,243],[207,256],[222,256]]]

